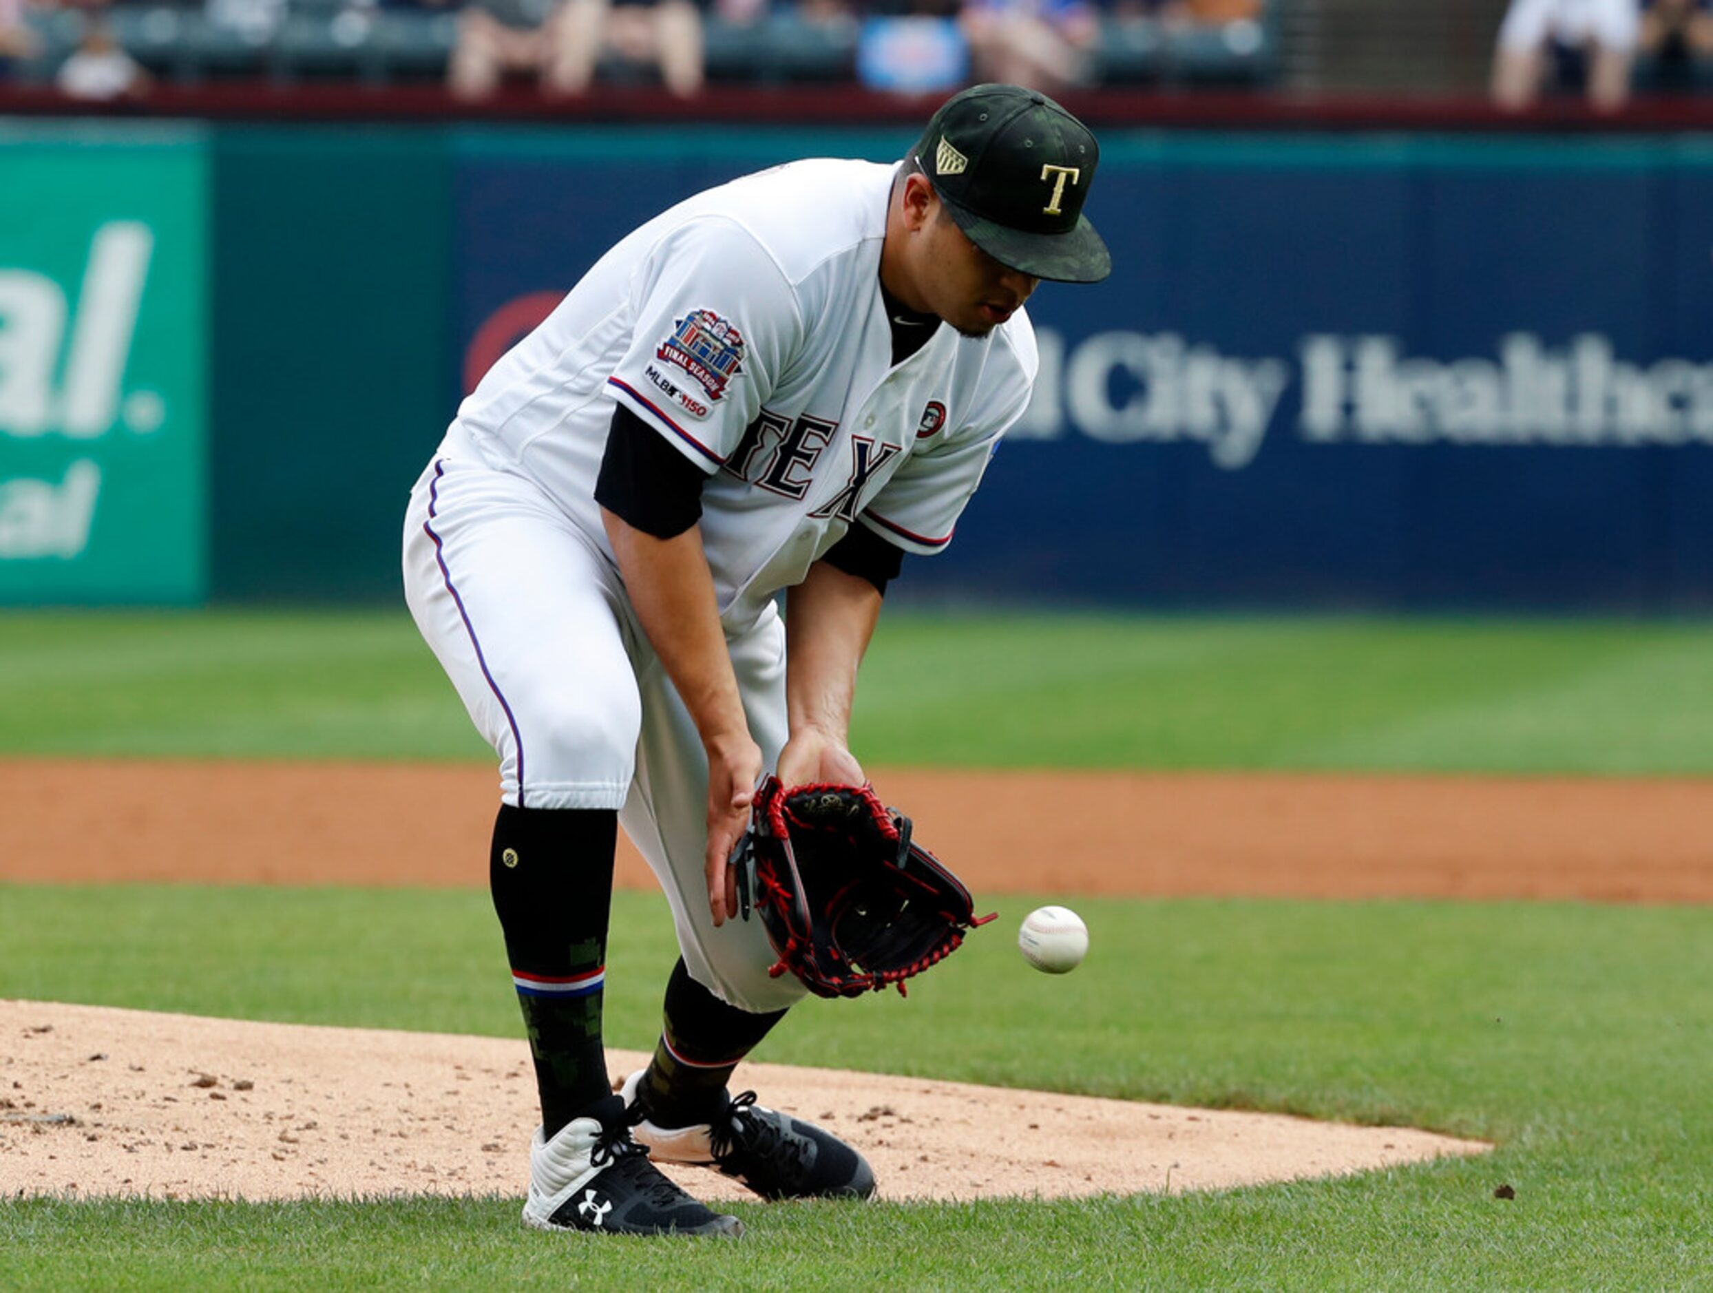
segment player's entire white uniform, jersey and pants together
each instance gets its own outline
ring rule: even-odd
[[[463,402],[411,493],[411,613],[526,808],[617,808],[671,903],[697,983],[747,1010],[761,921],[714,928],[707,760],[625,596],[594,483],[615,402],[707,476],[702,543],[750,735],[790,736],[773,594],[860,521],[937,551],[1035,378],[1018,310],[940,324],[892,365],[880,243],[894,168],[803,161],[692,197],[589,271]]]

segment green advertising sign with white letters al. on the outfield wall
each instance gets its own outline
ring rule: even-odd
[[[200,144],[7,140],[0,192],[0,601],[200,601]]]

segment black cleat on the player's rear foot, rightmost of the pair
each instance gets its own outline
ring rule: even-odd
[[[754,1091],[728,1099],[711,1123],[660,1127],[649,1120],[641,1081],[641,1072],[630,1074],[620,1094],[630,1106],[632,1135],[660,1163],[711,1166],[762,1199],[874,1195],[874,1168],[862,1154],[833,1132],[762,1108]]]

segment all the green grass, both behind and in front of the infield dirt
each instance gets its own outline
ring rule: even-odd
[[[901,617],[855,736],[874,764],[1706,774],[1713,629]],[[50,754],[485,757],[399,615],[0,615],[0,755]],[[1024,973],[1006,932],[1045,897],[1095,933],[1067,978]],[[810,1002],[759,1058],[1499,1149],[1206,1195],[742,1206],[738,1245],[524,1233],[516,1199],[9,1201],[0,1286],[1713,1284],[1708,909],[999,906],[908,1000]],[[660,897],[618,896],[615,1045],[651,1043],[670,937]],[[3,997],[512,1036],[497,942],[481,892],[0,887]]]

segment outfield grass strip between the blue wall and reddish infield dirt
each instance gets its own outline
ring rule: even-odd
[[[928,767],[1713,772],[1713,625],[887,613]],[[0,754],[490,757],[399,611],[0,613]]]

